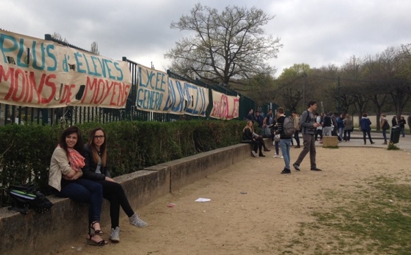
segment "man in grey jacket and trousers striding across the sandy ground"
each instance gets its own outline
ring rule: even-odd
[[[315,139],[314,134],[316,131],[316,127],[319,127],[319,123],[316,123],[316,119],[314,117],[314,111],[317,108],[316,101],[309,101],[308,102],[308,109],[301,114],[300,119],[300,126],[301,126],[301,134],[303,134],[303,145],[304,149],[299,154],[297,161],[292,165],[295,170],[300,171],[299,165],[303,161],[304,157],[310,152],[310,164],[312,171],[321,171],[321,169],[316,167],[315,162]]]

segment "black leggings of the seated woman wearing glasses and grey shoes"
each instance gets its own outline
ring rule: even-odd
[[[119,183],[106,180],[98,180],[97,182],[103,186],[103,197],[110,202],[110,218],[112,228],[115,229],[119,227],[120,206],[128,217],[134,215],[134,210],[130,206],[123,187]]]

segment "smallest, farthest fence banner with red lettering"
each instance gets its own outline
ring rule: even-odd
[[[212,90],[212,110],[210,117],[216,119],[238,118],[240,97],[225,95]]]

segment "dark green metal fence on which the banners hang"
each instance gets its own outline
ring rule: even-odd
[[[72,47],[75,49],[80,49],[86,51],[75,45],[71,45],[60,40],[52,38],[51,35],[46,34],[45,40],[51,40],[53,42],[58,42],[61,45]],[[90,51],[88,51],[90,52]],[[123,61],[127,61],[129,64],[129,69],[132,73],[132,90],[127,98],[127,103],[124,109],[111,109],[111,108],[101,108],[101,107],[86,107],[86,106],[69,106],[64,108],[30,108],[24,106],[11,106],[8,104],[0,104],[0,125],[7,125],[9,123],[37,123],[41,125],[55,125],[55,124],[79,124],[86,123],[90,121],[97,121],[100,123],[107,123],[110,121],[179,121],[179,120],[189,120],[189,119],[209,119],[210,112],[212,110],[212,104],[209,104],[206,110],[206,117],[197,117],[189,114],[179,115],[170,113],[158,113],[158,112],[147,112],[138,110],[136,108],[137,99],[137,81],[138,81],[138,63],[128,60],[123,57]],[[207,84],[201,80],[190,80],[181,75],[177,75],[171,71],[167,71],[169,77],[173,77],[177,80],[184,80],[197,86],[202,86],[209,88],[209,99],[211,102],[212,93],[211,90],[216,90],[225,95],[239,96],[240,106],[238,109],[239,117],[238,119],[245,119],[249,109],[256,109],[256,103],[249,97],[241,95],[234,90],[224,88],[218,84]],[[268,109],[269,104],[262,106],[263,109]]]

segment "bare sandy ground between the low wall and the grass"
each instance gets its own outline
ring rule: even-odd
[[[291,149],[291,162],[301,149]],[[120,243],[95,247],[82,236],[51,254],[315,254],[319,246],[335,254],[327,250],[333,241],[326,233],[309,231],[301,239],[301,223],[315,221],[314,210],[334,206],[324,193],[366,189],[365,180],[378,176],[409,182],[411,155],[372,147],[316,149],[321,172],[310,171],[307,156],[301,172],[280,174],[284,161],[271,150],[140,208],[147,228],[122,218]],[[195,202],[199,197],[211,201]],[[109,233],[110,226],[103,230]]]

